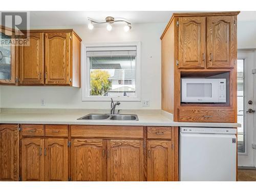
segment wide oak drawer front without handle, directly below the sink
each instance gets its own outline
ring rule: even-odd
[[[143,138],[143,126],[72,125],[71,137]]]

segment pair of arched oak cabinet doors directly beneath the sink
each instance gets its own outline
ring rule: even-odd
[[[71,178],[144,181],[143,158],[142,140],[72,139]]]

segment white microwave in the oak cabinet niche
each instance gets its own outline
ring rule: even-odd
[[[226,102],[226,79],[181,78],[181,102]]]

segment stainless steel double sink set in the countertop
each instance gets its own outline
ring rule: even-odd
[[[121,121],[138,121],[137,115],[128,114],[88,114],[86,116],[80,117],[77,120],[121,120]]]

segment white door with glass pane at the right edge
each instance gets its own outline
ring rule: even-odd
[[[238,51],[238,123],[242,124],[242,127],[238,128],[238,166],[256,166],[253,158],[256,152],[252,148],[253,130],[256,127],[253,123],[255,113],[249,113],[255,110],[256,106],[256,100],[253,98],[256,78],[252,74],[252,69],[256,68],[255,54],[254,51]]]

